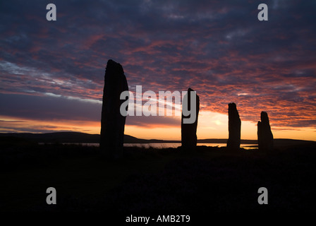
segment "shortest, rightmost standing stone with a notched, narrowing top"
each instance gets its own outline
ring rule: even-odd
[[[270,128],[269,117],[267,112],[261,112],[261,121],[258,121],[258,148],[268,152],[273,150],[273,134]]]

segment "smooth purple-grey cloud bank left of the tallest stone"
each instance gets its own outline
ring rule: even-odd
[[[86,120],[99,121],[101,107],[98,102],[69,99],[58,95],[11,95],[0,94],[1,115],[21,119]]]

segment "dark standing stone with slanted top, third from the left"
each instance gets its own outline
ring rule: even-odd
[[[241,146],[241,119],[235,103],[229,104],[229,139],[227,148],[239,149]]]

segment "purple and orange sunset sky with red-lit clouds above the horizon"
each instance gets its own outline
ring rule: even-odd
[[[235,102],[243,139],[265,111],[274,138],[316,141],[315,12],[298,0],[0,1],[0,133],[99,133],[113,59],[132,92],[193,88],[197,138],[228,138]],[[181,116],[128,116],[125,133],[180,140]]]

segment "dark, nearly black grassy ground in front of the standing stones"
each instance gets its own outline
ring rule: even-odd
[[[98,148],[1,143],[1,211],[111,211],[123,213],[210,213],[315,211],[312,145],[274,150],[197,147],[125,148],[107,160]],[[47,205],[46,189],[57,191]],[[266,187],[269,204],[257,203]]]

